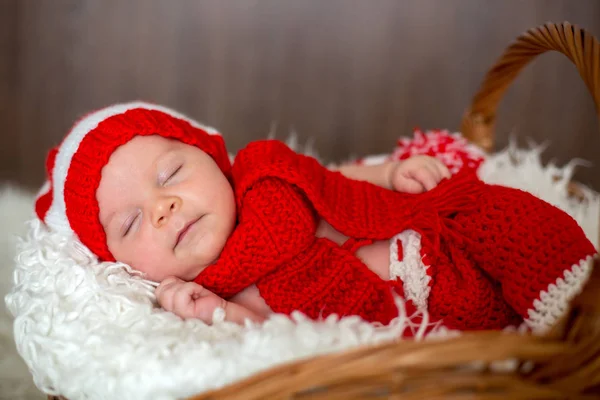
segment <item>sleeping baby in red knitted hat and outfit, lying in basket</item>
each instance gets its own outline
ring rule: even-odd
[[[414,156],[327,169],[281,142],[233,164],[213,129],[119,104],[49,153],[36,212],[99,261],[159,282],[182,318],[301,311],[390,323],[396,297],[460,330],[545,330],[587,278],[594,246],[566,213]]]

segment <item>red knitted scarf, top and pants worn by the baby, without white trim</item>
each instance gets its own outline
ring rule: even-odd
[[[517,323],[540,291],[594,253],[567,214],[472,172],[405,194],[345,178],[281,142],[259,141],[238,153],[232,181],[238,225],[195,282],[224,298],[255,284],[279,313],[389,323],[398,313],[392,292],[402,296],[402,282],[380,279],[354,249],[407,229],[420,233],[431,266],[428,311],[457,329]],[[320,219],[351,239],[338,246],[315,237]]]

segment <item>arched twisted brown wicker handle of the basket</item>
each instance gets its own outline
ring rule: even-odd
[[[487,73],[463,116],[461,132],[469,141],[492,150],[496,109],[504,92],[529,62],[549,50],[563,53],[575,64],[600,117],[600,43],[576,25],[548,23],[519,36]]]

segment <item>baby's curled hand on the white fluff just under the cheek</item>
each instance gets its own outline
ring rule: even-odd
[[[227,301],[195,282],[185,282],[176,277],[162,281],[155,291],[158,304],[181,318],[199,318],[212,323],[218,307],[225,308]]]

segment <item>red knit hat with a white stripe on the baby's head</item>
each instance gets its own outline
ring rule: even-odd
[[[115,260],[108,250],[96,200],[102,168],[117,147],[138,135],[160,135],[196,146],[230,175],[231,163],[219,133],[173,110],[135,102],[86,115],[49,152],[48,181],[38,195],[35,211],[50,229],[75,234],[101,261]]]

